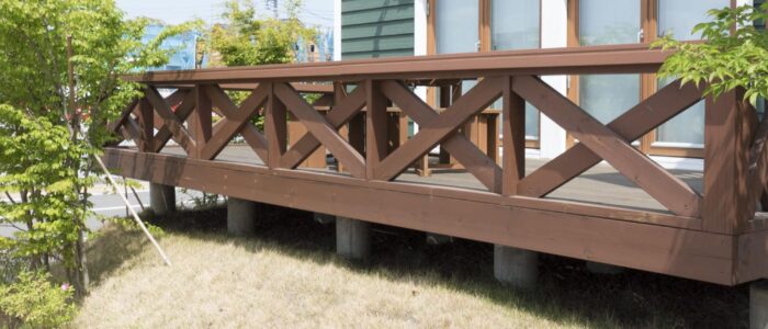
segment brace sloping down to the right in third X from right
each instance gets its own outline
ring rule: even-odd
[[[274,94],[355,178],[365,177],[365,159],[289,84],[274,83]],[[271,151],[271,150],[270,150]]]

